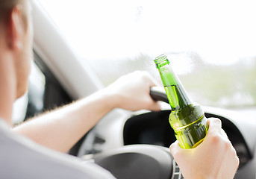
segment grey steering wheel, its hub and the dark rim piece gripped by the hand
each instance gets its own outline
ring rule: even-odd
[[[150,95],[156,101],[168,103],[163,88],[152,87]],[[99,166],[119,179],[183,178],[169,148],[157,145],[125,145],[93,155]]]

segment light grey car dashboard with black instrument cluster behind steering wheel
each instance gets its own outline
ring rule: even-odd
[[[255,143],[256,143],[256,119],[255,111],[246,113],[234,110],[222,110],[215,107],[203,107],[207,118],[219,118],[222,128],[231,140],[240,159],[240,166],[235,179],[255,179]],[[169,125],[170,109],[139,111],[136,113],[124,113],[116,111],[102,119],[96,128],[84,139],[78,156],[87,154],[99,154],[114,148],[130,145],[155,145],[169,148],[175,142],[175,134]],[[214,155],[214,154],[213,154]]]

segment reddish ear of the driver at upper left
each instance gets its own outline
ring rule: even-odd
[[[10,10],[7,21],[7,43],[9,48],[19,51],[22,48],[22,36],[24,33],[22,23],[22,10],[20,5],[16,5]]]

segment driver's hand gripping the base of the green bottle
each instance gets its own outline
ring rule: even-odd
[[[208,119],[209,131],[196,148],[183,149],[178,141],[170,151],[185,179],[231,179],[237,171],[239,159],[219,119]]]

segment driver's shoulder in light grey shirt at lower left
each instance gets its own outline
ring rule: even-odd
[[[0,143],[0,178],[113,178],[94,163],[81,163],[1,129]]]

